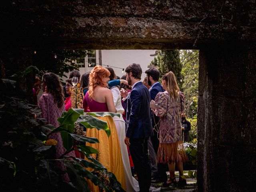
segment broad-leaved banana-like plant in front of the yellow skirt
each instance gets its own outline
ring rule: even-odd
[[[74,141],[80,141],[83,143],[98,143],[98,139],[89,138],[74,134],[74,123],[80,122],[80,124],[84,125],[88,128],[96,128],[98,130],[104,130],[108,136],[110,136],[110,129],[105,121],[102,121],[96,116],[119,116],[119,114],[111,113],[111,112],[95,112],[95,113],[85,113],[84,109],[74,109],[70,108],[68,112],[63,112],[62,116],[58,119],[60,122],[60,126],[58,128],[52,130],[48,135],[54,132],[60,132],[63,140],[63,145],[66,148],[66,153],[68,154],[70,151],[74,150]],[[72,158],[71,160],[63,159],[62,161],[66,165],[66,171],[70,176],[72,182],[74,182],[74,186],[78,189],[78,191],[90,191],[88,188],[87,179],[92,180],[92,182],[103,188],[106,192],[111,192],[115,190],[124,191],[120,185],[120,183],[116,180],[116,177],[111,172],[100,164],[96,159],[92,158],[91,154],[97,154],[98,151],[92,147],[86,145],[78,145],[78,151],[82,152],[88,160],[80,159],[80,158]],[[68,156],[64,156],[63,158],[68,158]],[[92,172],[89,172],[85,168],[93,168]],[[99,175],[105,174],[104,179],[100,179]],[[107,186],[106,186],[107,183]]]

